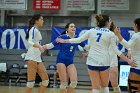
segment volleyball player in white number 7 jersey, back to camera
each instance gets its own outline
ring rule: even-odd
[[[108,29],[111,24],[110,17],[108,15],[96,15],[95,19],[97,22],[96,28],[90,29],[78,38],[67,40],[58,38],[57,42],[80,43],[88,39],[90,41],[90,49],[86,64],[92,83],[92,93],[99,93],[101,86],[103,93],[109,93],[109,46],[112,46],[115,53],[129,64],[133,64],[133,61],[118,51],[115,34]]]

